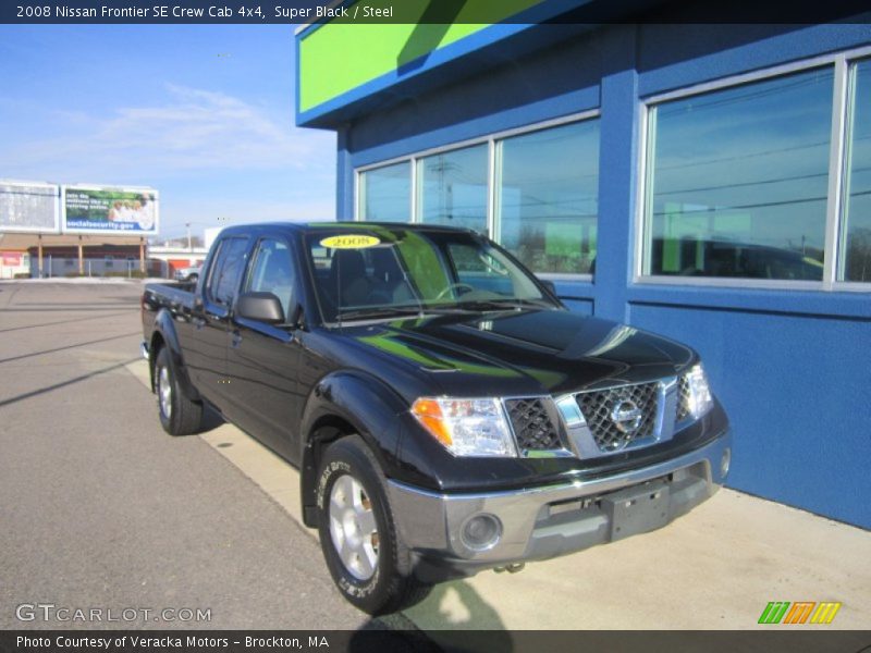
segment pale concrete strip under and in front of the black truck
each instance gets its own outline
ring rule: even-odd
[[[127,369],[148,383],[144,361]],[[293,467],[230,424],[201,438],[299,520]],[[827,626],[760,626],[771,601],[843,606]],[[424,630],[862,630],[871,624],[871,532],[722,490],[659,531],[517,575],[437,586],[405,614]]]

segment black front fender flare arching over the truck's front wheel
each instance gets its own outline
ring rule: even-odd
[[[387,383],[363,370],[339,370],[322,378],[308,395],[299,429],[299,483],[303,521],[315,528],[317,473],[324,444],[347,435],[349,427],[371,448],[384,476],[390,478],[398,461],[396,452],[408,410],[404,399]]]

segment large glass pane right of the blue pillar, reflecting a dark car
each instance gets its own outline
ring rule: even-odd
[[[651,108],[647,270],[821,280],[831,67]]]

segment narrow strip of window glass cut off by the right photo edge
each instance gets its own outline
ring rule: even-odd
[[[844,279],[871,281],[871,61],[854,69],[854,104],[844,213]]]

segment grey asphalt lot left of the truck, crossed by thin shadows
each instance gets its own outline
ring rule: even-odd
[[[160,429],[125,367],[142,341],[139,294],[0,285],[0,628],[71,625],[16,620],[34,603],[211,611],[96,627],[364,625],[279,505],[201,439]]]

